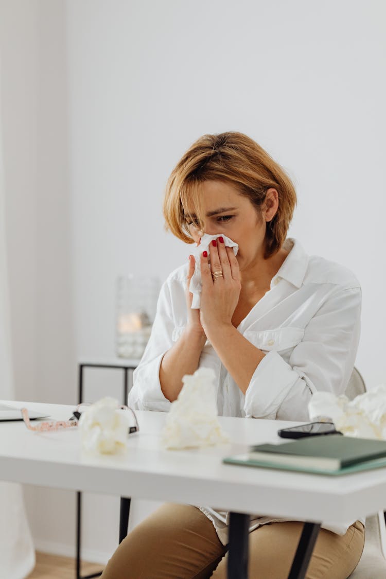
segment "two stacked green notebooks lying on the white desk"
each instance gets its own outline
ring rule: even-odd
[[[227,464],[341,475],[386,466],[386,441],[340,434],[300,438],[284,444],[252,446]]]

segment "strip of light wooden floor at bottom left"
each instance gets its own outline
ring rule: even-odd
[[[80,574],[91,575],[102,571],[103,567],[98,563],[86,563],[82,561]],[[75,559],[60,555],[48,555],[36,552],[36,566],[28,579],[75,579]]]

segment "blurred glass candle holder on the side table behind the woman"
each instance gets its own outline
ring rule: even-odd
[[[116,353],[138,360],[148,343],[156,314],[157,277],[120,276],[117,280]]]

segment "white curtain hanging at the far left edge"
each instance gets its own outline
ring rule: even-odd
[[[0,118],[0,400],[14,400],[4,187]],[[2,436],[1,423],[0,436]],[[25,516],[21,486],[0,480],[0,578],[24,579],[34,566],[35,550]]]

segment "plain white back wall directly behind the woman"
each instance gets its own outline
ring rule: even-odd
[[[363,285],[358,366],[384,379],[384,2],[68,3],[76,336],[113,345],[114,280],[165,277],[188,248],[161,195],[205,132],[251,135],[295,179],[291,233]],[[95,315],[98,313],[98,315]]]

